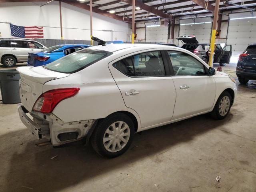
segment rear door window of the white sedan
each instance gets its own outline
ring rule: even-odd
[[[165,76],[164,62],[160,51],[140,53],[113,64],[127,76]]]

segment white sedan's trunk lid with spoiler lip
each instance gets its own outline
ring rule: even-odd
[[[40,67],[18,67],[20,74],[20,100],[23,106],[32,111],[34,103],[43,93],[44,83],[58,78],[64,78],[70,74],[54,72]]]

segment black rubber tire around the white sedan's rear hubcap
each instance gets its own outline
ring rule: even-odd
[[[110,152],[104,147],[103,138],[105,136],[105,131],[110,127],[110,125],[118,121],[122,121],[128,125],[128,129],[130,130],[130,136],[128,138],[127,144],[121,150],[116,152]],[[134,138],[134,123],[132,122],[131,118],[123,113],[115,113],[98,122],[94,132],[92,133],[90,141],[92,144],[92,148],[98,154],[107,158],[114,158],[122,155],[124,152],[128,150],[128,148],[132,144],[133,138]]]

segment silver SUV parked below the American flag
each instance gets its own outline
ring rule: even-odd
[[[0,39],[1,63],[6,67],[14,67],[16,63],[26,62],[29,52],[38,52],[46,46],[29,39]]]

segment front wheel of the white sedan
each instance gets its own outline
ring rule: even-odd
[[[212,110],[212,112],[210,112],[212,118],[217,120],[226,118],[230,111],[231,103],[232,97],[230,96],[229,92],[222,92],[214,106],[214,109]]]

